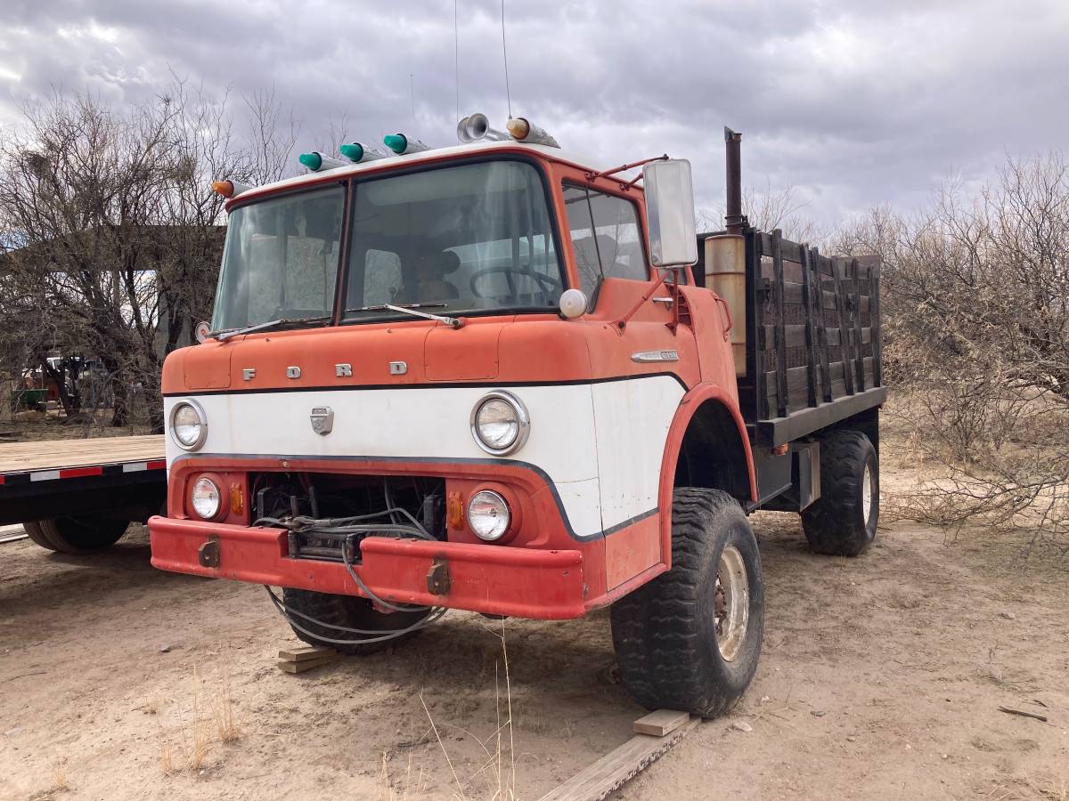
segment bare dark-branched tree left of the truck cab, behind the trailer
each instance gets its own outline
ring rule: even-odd
[[[232,143],[226,98],[175,81],[125,113],[87,95],[24,112],[22,130],[0,142],[0,312],[24,331],[5,326],[0,337],[18,340],[29,363],[56,352],[99,364],[112,424],[127,424],[137,399],[159,428],[162,359],[213,300],[222,200],[211,178],[252,169]],[[67,376],[53,378],[77,411],[63,397]]]

